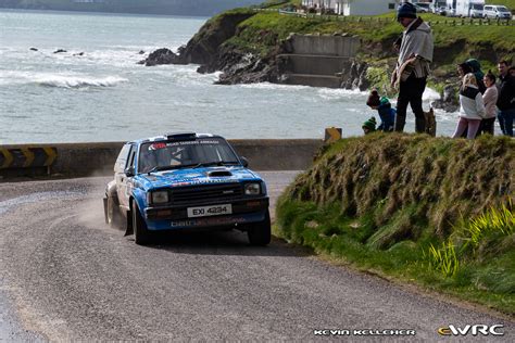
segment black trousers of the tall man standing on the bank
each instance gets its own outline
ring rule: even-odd
[[[405,81],[401,81],[397,99],[395,131],[402,132],[404,130],[407,104],[410,104],[415,114],[415,131],[425,132],[426,117],[422,109],[422,94],[425,89],[426,77],[416,78],[412,74]]]

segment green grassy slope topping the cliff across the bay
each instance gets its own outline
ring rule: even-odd
[[[293,1],[294,2],[294,1]],[[284,5],[284,4],[282,4]],[[277,12],[260,12],[238,25],[237,34],[226,45],[239,50],[273,55],[280,42],[290,33],[331,35],[347,33],[362,38],[363,48],[359,59],[381,73],[370,71],[372,86],[388,90],[389,75],[393,69],[397,52],[392,42],[402,33],[402,27],[393,21],[394,14],[378,16],[339,17],[327,20],[284,15]],[[423,14],[431,22],[435,37],[434,73],[429,79],[431,87],[442,89],[455,77],[455,65],[469,58],[478,59],[483,71],[495,67],[500,59],[514,60],[515,25],[470,25],[460,18],[448,18],[435,14]],[[447,24],[445,24],[447,21]],[[453,25],[456,21],[456,25]],[[386,72],[386,73],[385,73]],[[455,80],[452,80],[455,81]]]

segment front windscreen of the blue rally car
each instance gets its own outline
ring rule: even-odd
[[[224,139],[198,138],[141,144],[138,172],[239,164],[238,157]]]

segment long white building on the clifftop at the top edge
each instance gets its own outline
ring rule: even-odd
[[[340,15],[376,15],[394,11],[399,0],[302,0],[317,11],[332,10]]]

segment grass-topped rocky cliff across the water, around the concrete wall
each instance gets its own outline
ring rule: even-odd
[[[434,73],[428,79],[442,101],[440,105],[455,106],[455,65],[468,58],[478,59],[486,72],[500,59],[513,59],[514,25],[476,26],[442,17],[423,16],[432,25],[435,36]],[[454,25],[454,26],[453,26]],[[460,26],[457,26],[460,25]],[[310,36],[359,37],[361,48],[353,63],[338,71],[339,87],[370,87],[393,94],[389,79],[397,51],[392,48],[402,27],[391,14],[348,20],[326,20],[284,15],[274,11],[236,9],[214,16],[199,33],[177,51],[173,63],[200,64],[199,73],[222,72],[218,84],[285,82],[288,64],[279,56],[291,53],[292,33]],[[438,104],[437,104],[438,105]]]

